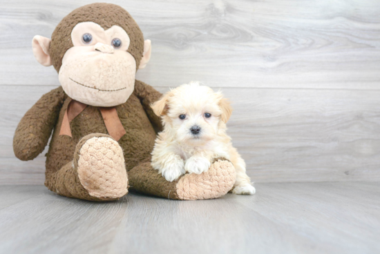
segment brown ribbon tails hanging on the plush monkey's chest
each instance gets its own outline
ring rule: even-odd
[[[86,106],[86,104],[82,104],[82,102],[79,101],[70,101],[61,124],[59,135],[68,135],[73,137],[71,135],[70,122],[73,121],[73,119],[77,117],[77,115],[79,115],[86,108]],[[104,124],[106,125],[109,135],[111,135],[111,137],[113,137],[116,141],[119,141],[119,139],[124,136],[126,131],[119,119],[119,116],[117,115],[116,108],[100,107],[99,110],[100,113],[102,113]]]

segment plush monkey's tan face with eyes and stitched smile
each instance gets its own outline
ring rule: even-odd
[[[97,23],[78,23],[71,32],[59,82],[66,94],[91,106],[123,104],[133,92],[136,61],[126,52],[130,39],[120,26],[104,30]]]

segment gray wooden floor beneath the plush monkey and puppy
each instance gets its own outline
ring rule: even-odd
[[[119,202],[0,186],[0,253],[380,253],[380,184],[262,183],[254,196]]]

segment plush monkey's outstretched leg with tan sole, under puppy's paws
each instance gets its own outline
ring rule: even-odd
[[[231,162],[224,158],[214,159],[209,170],[200,175],[186,174],[168,182],[151,166],[142,162],[129,172],[132,190],[169,199],[214,199],[225,195],[234,187],[236,171]]]

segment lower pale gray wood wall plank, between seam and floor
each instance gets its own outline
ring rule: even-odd
[[[55,87],[0,88],[0,184],[43,184],[47,149],[21,162],[12,137],[26,110]],[[252,181],[380,181],[380,91],[222,91],[234,106],[227,133]]]

